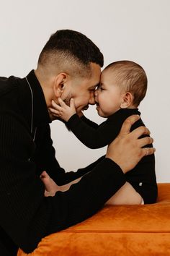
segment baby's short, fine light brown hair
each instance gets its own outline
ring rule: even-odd
[[[115,61],[105,67],[114,72],[117,84],[133,95],[133,106],[137,107],[146,95],[147,76],[139,64],[133,61]]]

